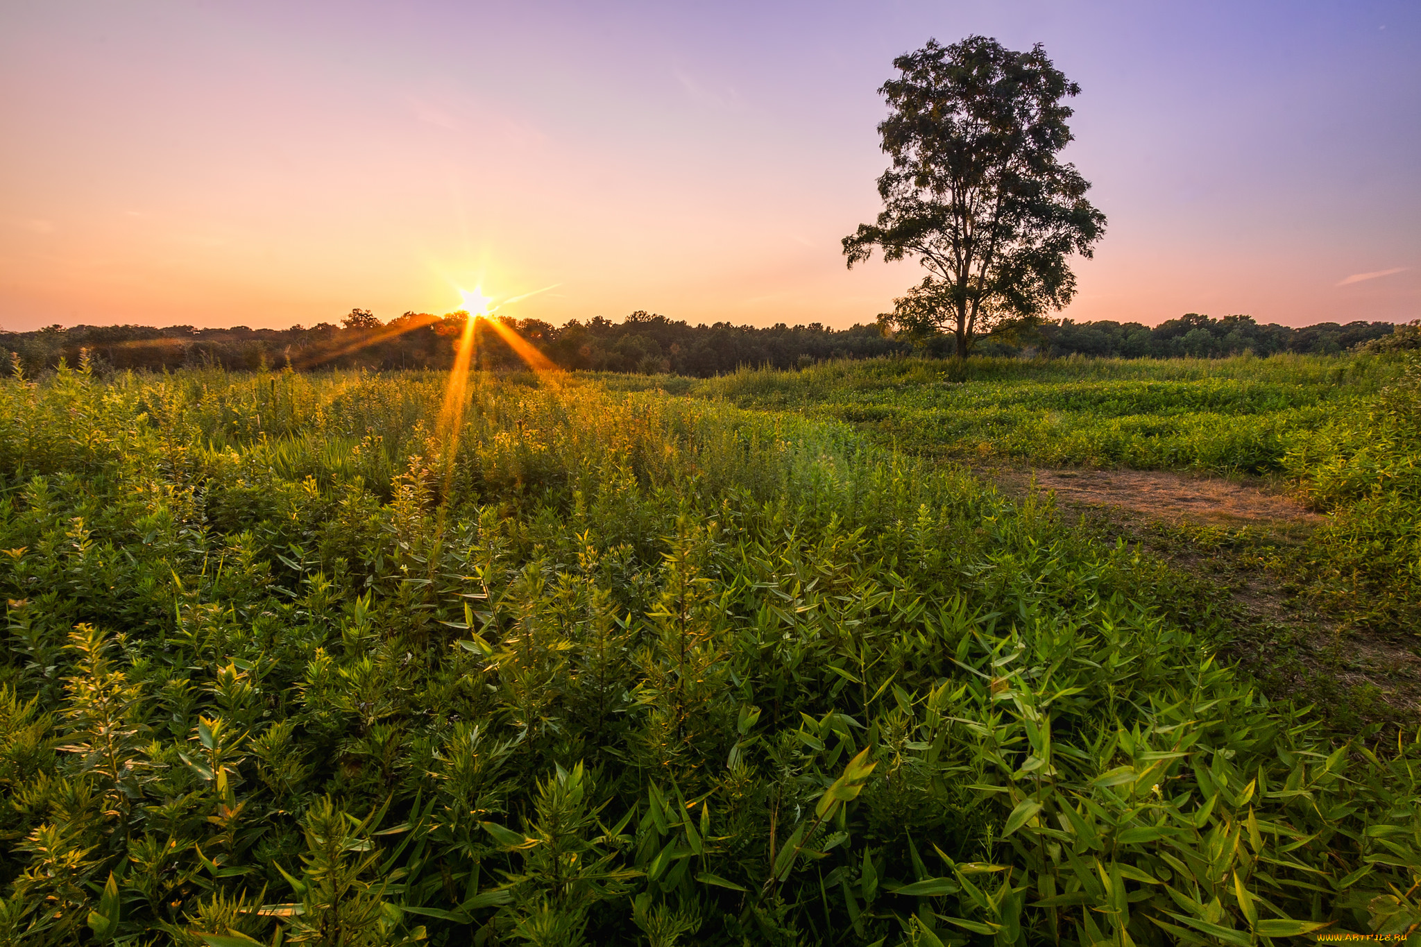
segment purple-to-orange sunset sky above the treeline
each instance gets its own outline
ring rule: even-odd
[[[0,328],[871,322],[877,89],[971,34],[1083,89],[1060,315],[1421,317],[1414,0],[0,0]]]

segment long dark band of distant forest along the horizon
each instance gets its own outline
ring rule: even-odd
[[[465,314],[435,317],[406,312],[381,322],[354,310],[341,325],[310,328],[198,329],[190,325],[51,325],[34,332],[0,332],[0,345],[14,352],[26,372],[53,369],[60,359],[77,365],[81,354],[95,371],[220,365],[227,369],[261,366],[320,368],[448,368],[463,332]],[[911,354],[914,346],[885,336],[878,325],[827,329],[810,325],[689,325],[664,315],[632,312],[622,322],[597,317],[554,327],[540,319],[499,317],[509,329],[568,369],[710,376],[742,365],[796,368],[833,358],[872,358]],[[1248,315],[1214,319],[1188,314],[1154,328],[1140,322],[1073,322],[1034,327],[1012,339],[986,336],[973,349],[983,355],[1096,355],[1123,358],[1216,358],[1253,352],[1336,354],[1390,335],[1391,322],[1322,322],[1306,328],[1259,325]],[[929,339],[919,354],[951,355],[951,338]],[[514,368],[519,356],[485,321],[477,322],[477,358],[485,368]]]

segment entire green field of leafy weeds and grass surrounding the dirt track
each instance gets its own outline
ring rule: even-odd
[[[1417,625],[1395,358],[0,383],[4,943],[1268,944],[1421,923],[1421,734],[958,460],[1259,474]],[[639,390],[638,390],[639,389]],[[1280,554],[1282,555],[1282,554]]]

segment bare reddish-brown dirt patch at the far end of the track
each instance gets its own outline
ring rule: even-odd
[[[1191,477],[1168,470],[1017,470],[1000,471],[999,481],[1025,491],[1054,490],[1071,505],[1120,507],[1150,520],[1189,521],[1238,530],[1255,525],[1312,528],[1323,517],[1292,497],[1223,477]]]

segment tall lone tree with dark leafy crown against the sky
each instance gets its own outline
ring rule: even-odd
[[[980,35],[929,40],[894,68],[878,89],[891,108],[878,125],[892,158],[884,210],[844,237],[844,254],[850,267],[874,247],[917,257],[928,275],[880,322],[915,338],[951,328],[963,358],[978,335],[1064,307],[1076,294],[1066,257],[1090,257],[1106,231],[1090,183],[1057,158],[1071,141],[1063,99],[1080,87],[1040,44],[1013,53]]]

